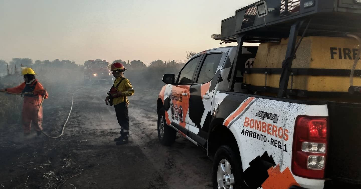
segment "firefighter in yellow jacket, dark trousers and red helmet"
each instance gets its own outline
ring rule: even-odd
[[[118,123],[121,127],[120,137],[114,138],[117,145],[128,143],[129,136],[129,116],[128,105],[129,101],[127,96],[134,94],[134,90],[129,80],[124,77],[124,71],[126,70],[122,63],[113,63],[109,66],[113,76],[116,78],[113,87],[107,93],[105,103],[110,106],[114,104],[115,113],[117,115]]]

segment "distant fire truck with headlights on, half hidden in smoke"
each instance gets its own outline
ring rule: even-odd
[[[84,64],[84,82],[85,84],[94,82],[113,83],[113,76],[108,68],[109,63],[106,60],[88,60]]]

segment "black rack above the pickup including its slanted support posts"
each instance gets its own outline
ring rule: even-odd
[[[348,33],[360,35],[359,23],[361,0],[262,0],[236,10],[235,16],[222,21],[221,34],[214,34],[212,38],[224,43],[238,43],[229,91],[234,91],[234,65],[240,63],[244,42],[280,42],[282,38],[288,38],[277,95],[284,98],[287,96],[292,61],[303,38],[346,37]],[[301,38],[297,40],[300,34]]]

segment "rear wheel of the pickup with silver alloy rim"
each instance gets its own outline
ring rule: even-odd
[[[242,164],[234,150],[227,145],[218,148],[213,159],[213,189],[240,189],[242,182]]]

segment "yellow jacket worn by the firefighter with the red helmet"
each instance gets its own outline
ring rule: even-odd
[[[121,77],[117,77],[116,80],[114,81],[113,87],[116,87],[122,79],[123,78]],[[127,96],[131,96],[135,92],[129,80],[125,78],[116,88],[116,90],[122,92],[123,96],[119,96],[118,98],[113,99],[114,106],[122,102],[129,104]]]

